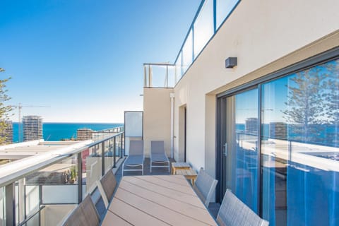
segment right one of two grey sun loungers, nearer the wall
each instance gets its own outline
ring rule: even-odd
[[[163,163],[166,165],[158,165]],[[164,141],[150,141],[150,172],[152,167],[168,167],[169,172],[169,160],[165,153]]]

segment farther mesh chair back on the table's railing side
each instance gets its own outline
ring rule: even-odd
[[[117,179],[110,169],[101,179],[97,182],[97,188],[100,191],[102,201],[105,203],[105,207],[108,207],[109,201],[112,200],[115,187],[117,186]]]

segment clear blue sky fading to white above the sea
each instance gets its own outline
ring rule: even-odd
[[[1,0],[8,104],[50,106],[22,109],[44,121],[124,121],[143,108],[143,63],[174,62],[200,3]]]

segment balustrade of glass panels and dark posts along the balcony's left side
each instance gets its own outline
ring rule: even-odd
[[[86,194],[92,194],[97,180],[124,155],[123,127],[100,132],[101,140],[36,165],[33,159],[33,165],[12,173],[17,175],[14,180],[0,180],[0,226],[8,225],[9,218],[11,225],[59,225]],[[23,168],[24,164],[25,159]],[[10,167],[8,163],[1,170]],[[13,197],[15,206],[6,206],[6,197]]]

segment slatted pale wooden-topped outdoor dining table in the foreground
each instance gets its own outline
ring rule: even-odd
[[[102,225],[217,225],[182,175],[122,177]]]

